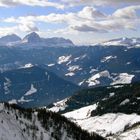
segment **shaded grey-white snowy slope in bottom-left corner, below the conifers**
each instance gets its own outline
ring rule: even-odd
[[[14,113],[14,110],[8,111],[3,104],[0,104],[0,140],[31,140],[33,132],[30,128],[27,130],[27,126],[31,126],[33,122],[19,116],[17,120]],[[18,111],[16,113],[18,114]],[[36,131],[36,140],[40,140],[42,132],[44,140],[50,139],[50,134],[42,128],[37,120],[36,124],[39,129]],[[23,131],[24,129],[25,131]]]

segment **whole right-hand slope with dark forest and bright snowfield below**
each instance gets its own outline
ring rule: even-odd
[[[50,105],[88,132],[113,140],[140,138],[140,83],[86,89]]]

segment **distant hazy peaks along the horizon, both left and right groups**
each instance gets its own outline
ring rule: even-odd
[[[3,46],[18,46],[18,47],[74,47],[74,43],[65,38],[42,38],[36,32],[32,32],[21,39],[16,34],[6,35],[0,38],[0,45]],[[127,46],[127,47],[140,47],[140,38],[117,38],[102,43],[94,44],[93,46]]]

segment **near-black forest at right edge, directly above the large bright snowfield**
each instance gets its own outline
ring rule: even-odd
[[[96,110],[91,112],[92,116],[106,113],[137,113],[140,114],[140,84],[129,84],[120,88],[111,88],[114,96],[107,97],[98,103]],[[110,92],[110,93],[111,93]],[[122,102],[128,102],[121,104]]]

